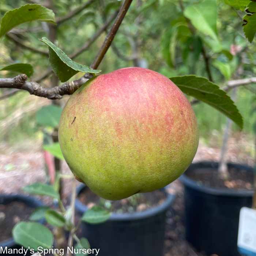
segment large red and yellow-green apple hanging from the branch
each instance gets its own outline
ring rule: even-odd
[[[195,113],[165,76],[122,68],[90,79],[65,105],[61,151],[78,180],[120,200],[176,180],[198,146]]]

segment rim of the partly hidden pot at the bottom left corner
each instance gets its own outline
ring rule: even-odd
[[[26,196],[23,194],[0,194],[0,204],[4,204],[5,202],[22,202],[25,204],[32,204],[34,205],[33,207],[37,208],[37,207],[41,207],[44,206],[44,204],[41,202],[41,200],[36,199],[33,196]],[[43,221],[39,221],[39,222],[43,222]],[[14,246],[16,244],[16,242],[14,241],[13,238],[8,238],[4,241],[0,241],[0,247],[11,247]]]

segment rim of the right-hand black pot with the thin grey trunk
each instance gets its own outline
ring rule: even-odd
[[[194,170],[194,169],[201,169],[201,168],[218,168],[218,162],[215,161],[200,161],[200,162],[195,162],[192,163],[188,169],[186,170]],[[202,166],[204,165],[204,166]],[[253,167],[249,165],[242,165],[238,163],[233,163],[233,162],[228,162],[227,165],[229,167],[234,167],[236,169],[244,169],[250,172],[253,172],[254,169]],[[234,189],[229,189],[229,188],[211,188],[205,185],[200,185],[196,181],[192,180],[189,178],[186,173],[182,174],[180,176],[179,180],[182,182],[184,186],[187,186],[189,188],[195,189],[196,191],[200,191],[206,194],[210,195],[215,195],[215,196],[233,196],[233,197],[252,197],[254,190],[248,190],[248,189],[239,189],[239,190],[234,190]]]

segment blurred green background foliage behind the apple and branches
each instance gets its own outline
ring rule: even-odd
[[[53,1],[56,17],[68,14],[70,10],[79,7],[84,2],[85,0]],[[207,77],[202,54],[202,47],[204,47],[210,58],[210,69],[215,83],[224,86],[227,79],[254,76],[256,45],[255,41],[250,44],[245,38],[242,29],[244,9],[241,7],[241,10],[236,10],[225,2],[229,1],[211,0],[211,5],[216,7],[216,15],[208,15],[204,28],[201,29],[199,25],[207,15],[207,12],[201,10],[204,8],[202,0],[134,0],[114,39],[114,47],[110,47],[99,69],[102,70],[102,73],[106,73],[118,68],[140,65],[168,77],[188,74]],[[1,0],[0,17],[6,11],[26,3],[25,0]],[[196,5],[191,7],[195,3]],[[119,6],[120,1],[117,0],[95,1],[89,8],[58,27],[55,44],[68,55],[74,53],[87,42]],[[200,11],[201,20],[193,16],[195,8]],[[211,8],[211,11],[215,10],[214,8]],[[196,12],[195,15],[197,15]],[[214,15],[217,20],[214,20]],[[194,33],[191,31],[187,19],[191,19],[195,25]],[[15,35],[24,44],[48,51],[48,47],[38,40],[38,38],[48,36],[46,23],[25,23],[16,27],[15,31]],[[75,61],[90,65],[104,38],[105,34],[103,33],[90,46],[90,49],[80,54]],[[234,55],[230,54],[230,49],[233,49]],[[133,56],[136,58],[131,59]],[[129,58],[131,60],[128,60]],[[0,67],[17,62],[33,65],[32,80],[38,78],[49,68],[47,56],[23,49],[4,37],[0,47]],[[2,74],[8,76],[8,72]],[[79,76],[81,74],[77,74],[74,78]],[[50,86],[50,80],[46,79],[42,84]],[[255,91],[254,85],[248,87]],[[244,132],[251,135],[254,123],[252,119],[255,118],[251,114],[253,95],[255,95],[252,90],[240,88],[237,97],[238,109],[244,117]],[[0,101],[0,127],[1,123],[12,116],[17,108],[20,108],[22,104],[28,104],[26,101],[28,95],[28,93],[19,92]],[[22,101],[23,103],[21,103]],[[214,130],[222,131],[226,118],[221,113],[204,103],[195,105],[194,109],[200,133],[204,138],[207,138]],[[37,136],[34,113],[28,111],[23,114],[17,124],[11,125],[1,133],[0,139],[16,142],[24,136]],[[237,127],[234,125],[233,129],[236,131]]]

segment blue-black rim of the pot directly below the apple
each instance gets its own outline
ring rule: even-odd
[[[88,210],[88,207],[83,204],[79,199],[78,195],[82,192],[82,190],[86,187],[85,184],[80,184],[76,188],[76,202],[75,202],[75,207],[76,210],[79,212],[79,214],[83,214],[85,211]],[[173,203],[175,199],[174,194],[170,194],[166,191],[166,188],[162,188],[162,191],[165,192],[166,194],[166,199],[165,202],[160,204],[159,206],[154,206],[146,211],[141,211],[141,212],[132,212],[132,213],[112,213],[108,221],[133,221],[133,220],[139,220],[139,219],[144,219],[148,217],[152,217],[159,212],[166,211],[170,205]]]

